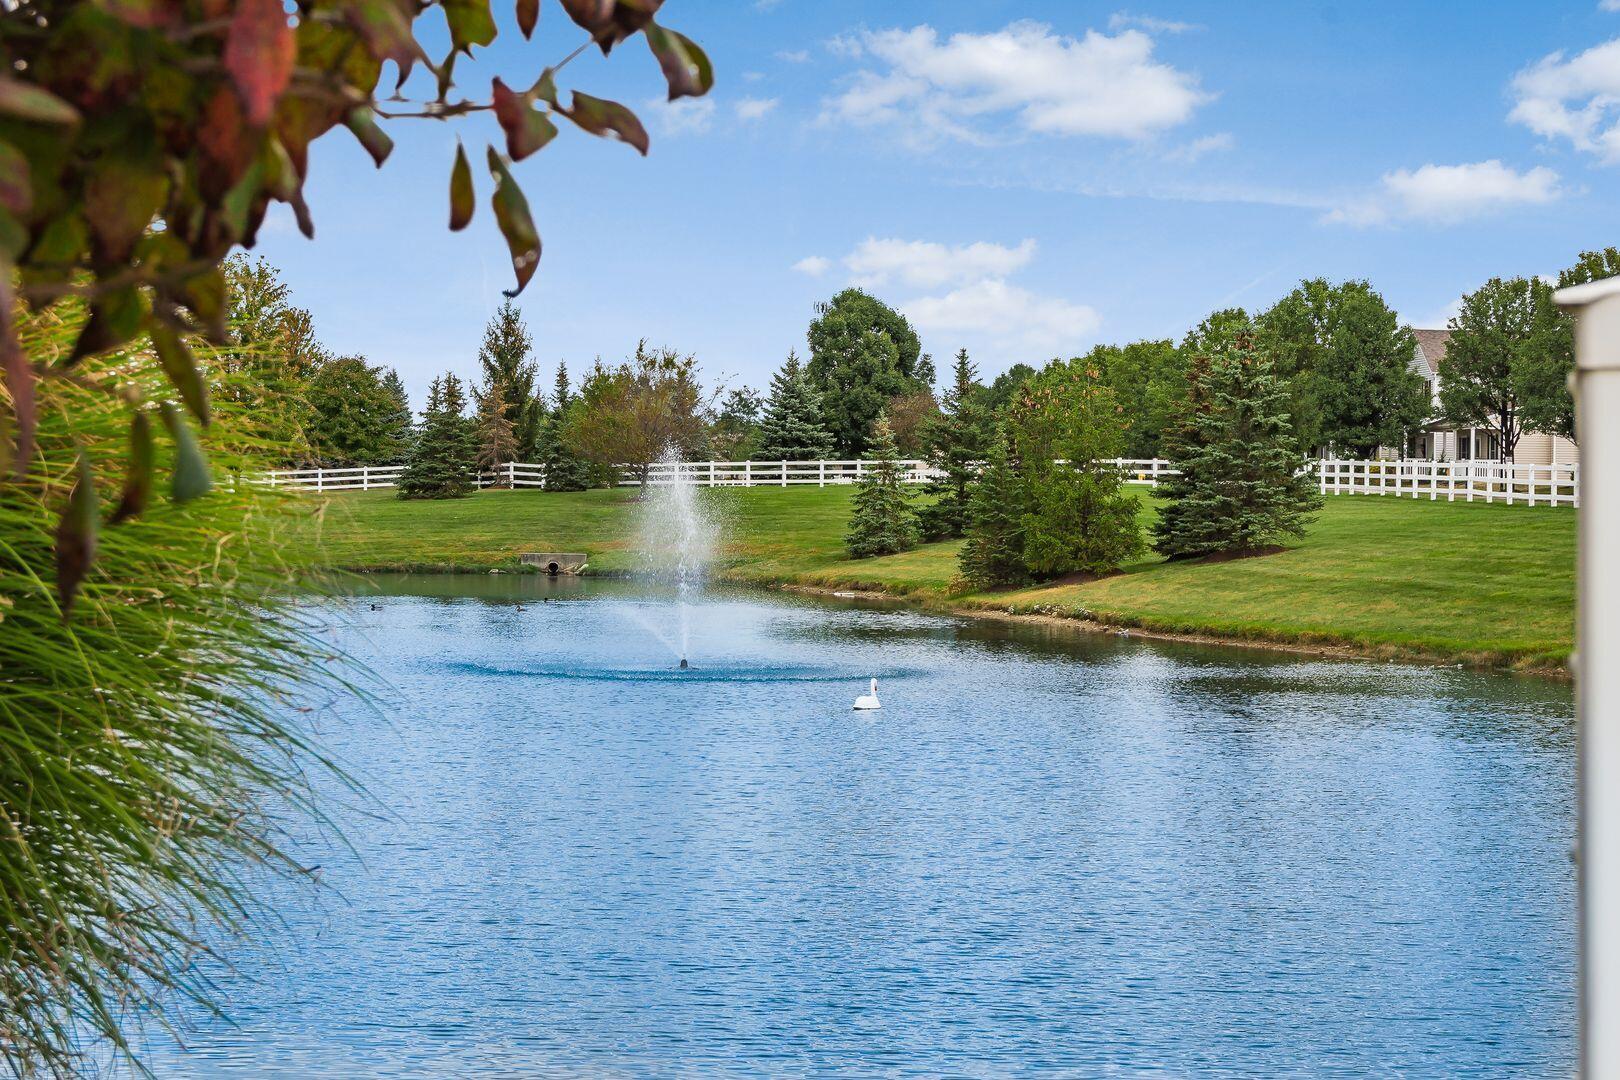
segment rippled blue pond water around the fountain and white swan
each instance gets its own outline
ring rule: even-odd
[[[379,589],[350,847],[159,1075],[1573,1070],[1565,685],[761,594],[680,674],[624,586]]]

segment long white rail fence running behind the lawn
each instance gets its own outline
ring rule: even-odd
[[[1113,458],[1128,484],[1157,487],[1176,470],[1163,458]],[[687,483],[700,487],[794,487],[852,484],[870,473],[873,461],[661,461],[648,470],[653,486]],[[904,481],[922,484],[938,471],[927,461],[901,461]],[[1456,502],[1508,502],[1547,507],[1580,505],[1578,465],[1505,465],[1500,461],[1340,461],[1312,466],[1325,495],[1406,495]],[[402,466],[374,465],[340,470],[280,470],[264,474],[272,487],[300,491],[373,491],[394,487]],[[507,461],[478,478],[480,487],[539,487],[546,468]],[[622,476],[622,487],[640,484]]]

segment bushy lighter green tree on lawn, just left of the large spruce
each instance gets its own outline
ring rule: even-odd
[[[1008,431],[1024,481],[1032,576],[1106,573],[1140,554],[1140,504],[1110,461],[1124,437],[1119,405],[1095,364],[1050,364],[1019,392]]]

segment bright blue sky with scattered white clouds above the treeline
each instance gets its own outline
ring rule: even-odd
[[[552,0],[531,42],[496,8],[496,44],[457,65],[468,97],[583,39]],[[630,105],[651,154],[562,123],[514,167],[548,376],[646,338],[765,387],[846,285],[982,376],[1179,338],[1306,277],[1366,279],[1430,327],[1490,277],[1620,243],[1620,0],[667,0],[659,19],[713,58],[711,94],[667,105],[640,39],[590,50],[559,86]],[[434,374],[476,372],[512,285],[478,168],[501,134],[387,130],[381,170],[347,131],[321,139],[316,240],[277,207],[258,253],[329,348],[399,369],[420,405]],[[480,207],[450,233],[457,138]]]

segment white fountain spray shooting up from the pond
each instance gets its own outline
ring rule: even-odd
[[[714,520],[698,504],[697,478],[677,455],[659,463],[658,481],[642,492],[640,549],[646,572],[674,586],[674,627],[666,631],[640,612],[630,617],[664,643],[680,669],[688,670],[692,614],[703,593],[703,578],[714,555]]]

